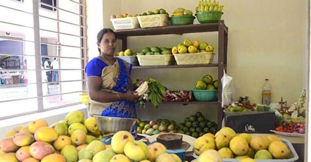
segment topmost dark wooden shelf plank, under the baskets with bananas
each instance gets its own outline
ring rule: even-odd
[[[180,25],[180,26],[165,26],[156,28],[138,28],[129,30],[116,30],[118,38],[124,38],[127,36],[151,36],[151,35],[165,35],[165,34],[184,34],[184,33],[197,33],[197,32],[217,32],[219,29],[219,23],[207,24],[192,24],[192,25]]]

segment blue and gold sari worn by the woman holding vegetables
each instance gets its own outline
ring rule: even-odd
[[[97,77],[102,80],[102,90],[113,93],[126,93],[133,90],[130,73],[132,64],[116,58],[109,65],[101,58],[93,58],[85,67],[87,78]],[[88,116],[101,115],[106,117],[136,118],[135,102],[120,100],[101,103],[89,99],[87,104]]]

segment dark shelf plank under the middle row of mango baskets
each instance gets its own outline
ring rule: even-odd
[[[199,68],[199,67],[218,67],[218,64],[205,65],[159,65],[159,66],[133,66],[133,69],[169,69],[169,68]]]

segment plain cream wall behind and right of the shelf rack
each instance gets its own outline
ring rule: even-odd
[[[143,13],[164,8],[171,15],[178,7],[194,11],[198,0],[120,0],[113,5],[104,4],[104,27],[111,27],[111,14]],[[266,78],[272,84],[272,102],[281,96],[288,104],[295,102],[306,88],[306,56],[308,34],[307,0],[220,0],[225,5],[222,19],[229,27],[228,74],[234,78],[238,96],[249,96],[251,102],[261,102],[261,87]],[[119,10],[119,8],[121,8]],[[108,11],[111,13],[107,14]],[[194,24],[197,24],[194,20]],[[195,33],[164,36],[142,36],[128,38],[127,45],[134,51],[147,46],[172,47],[185,39],[207,41],[218,53],[217,33]],[[121,44],[118,44],[120,47]],[[214,62],[217,61],[217,55]],[[133,70],[132,78],[153,77],[171,89],[190,89],[204,74],[217,78],[216,68],[151,69]],[[203,105],[202,105],[203,107]],[[207,106],[210,107],[210,106]],[[197,105],[166,105],[162,110],[150,107],[139,111],[141,118],[184,118],[196,110],[215,119],[211,109]],[[151,112],[149,112],[151,110]],[[163,113],[164,112],[164,113]],[[152,114],[152,115],[151,115]]]

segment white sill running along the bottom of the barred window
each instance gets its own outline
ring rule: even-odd
[[[53,117],[53,116],[57,116],[57,115],[61,115],[61,114],[66,114],[66,113],[69,113],[71,111],[83,110],[83,109],[86,109],[86,106],[84,104],[78,104],[78,105],[74,105],[74,106],[68,106],[68,107],[64,107],[64,108],[60,108],[60,109],[48,110],[45,112],[25,115],[25,116],[21,116],[21,117],[0,120],[0,128],[11,126],[11,125],[17,125],[20,123],[30,122],[33,120],[49,118],[49,117]],[[85,115],[85,117],[86,117],[86,115]]]

